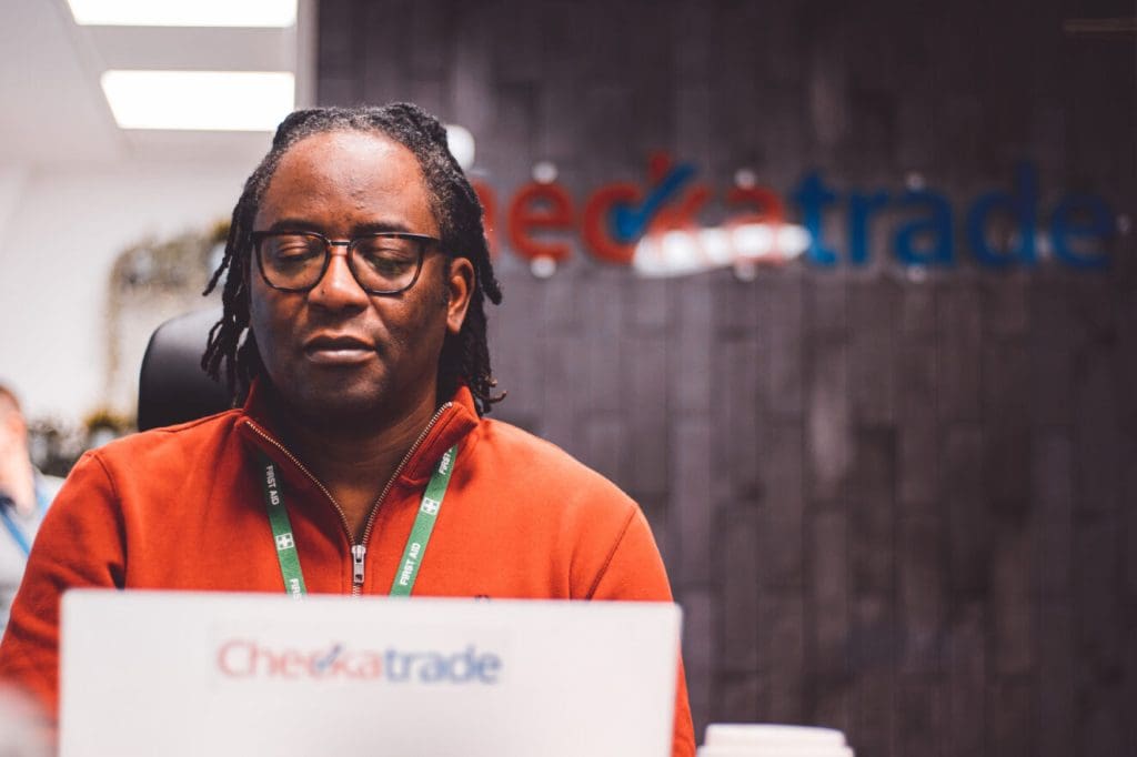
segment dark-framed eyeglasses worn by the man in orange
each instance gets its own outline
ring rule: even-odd
[[[316,232],[252,232],[257,267],[265,283],[282,292],[310,291],[327,272],[333,247],[346,247],[348,269],[368,294],[398,294],[418,280],[426,248],[440,241],[424,234],[381,232],[333,242]]]

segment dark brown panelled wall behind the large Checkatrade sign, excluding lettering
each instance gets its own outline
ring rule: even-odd
[[[536,161],[579,207],[642,182],[654,149],[714,188],[740,167],[782,193],[811,167],[843,192],[919,175],[960,211],[1029,158],[1043,210],[1061,191],[1137,199],[1134,36],[1062,32],[1131,2],[319,6],[321,102],[406,99],[463,124],[499,206]],[[505,250],[499,414],[642,504],[700,733],[1137,754],[1134,236],[1106,272],[916,276],[885,260],[894,221],[872,227],[871,265],[753,282],[639,280],[579,243],[538,280]]]

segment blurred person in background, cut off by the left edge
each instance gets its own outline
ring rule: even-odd
[[[32,465],[19,401],[0,384],[0,633],[40,521],[61,484],[63,479],[45,476]]]

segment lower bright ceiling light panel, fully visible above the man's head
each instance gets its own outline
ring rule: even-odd
[[[296,107],[285,72],[108,70],[102,91],[123,128],[271,132]]]

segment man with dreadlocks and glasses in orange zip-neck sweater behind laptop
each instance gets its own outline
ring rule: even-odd
[[[223,274],[202,365],[243,407],[76,465],[0,676],[55,707],[65,587],[670,599],[631,500],[482,417],[499,399],[483,300],[500,292],[434,118],[408,105],[291,115],[210,288]],[[694,754],[682,677],[674,743]]]

